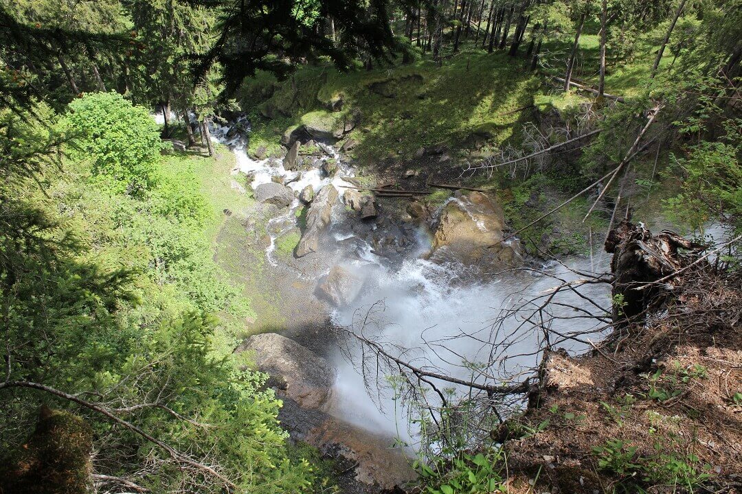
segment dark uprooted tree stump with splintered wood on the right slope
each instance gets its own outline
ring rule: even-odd
[[[687,252],[681,253],[681,249]],[[605,239],[605,252],[613,254],[614,325],[625,327],[659,308],[680,281],[672,277],[673,273],[696,261],[700,250],[703,246],[674,232],[664,230],[653,236],[642,223],[624,220],[611,230]],[[658,280],[663,283],[655,283]]]

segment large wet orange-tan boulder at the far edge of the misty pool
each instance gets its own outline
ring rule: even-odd
[[[506,241],[505,215],[485,193],[457,192],[441,210],[433,236],[433,261],[459,261],[485,272],[523,262],[518,241]]]

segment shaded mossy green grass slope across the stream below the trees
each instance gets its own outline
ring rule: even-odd
[[[513,110],[531,103],[538,84],[503,53],[462,53],[442,67],[427,60],[352,73],[303,67],[263,103],[280,108],[282,116],[255,124],[250,148],[278,143],[287,129],[303,123],[338,128],[351,113],[359,115],[350,134],[359,143],[352,154],[365,165],[390,156],[411,158],[433,144],[461,147],[472,134],[499,145],[517,133],[520,112]],[[329,111],[340,99],[342,110]]]

